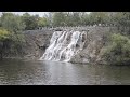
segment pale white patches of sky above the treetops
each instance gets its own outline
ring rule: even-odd
[[[23,15],[26,12],[11,12],[11,13]],[[27,13],[29,13],[30,15],[38,14],[40,17],[42,17],[44,14],[48,14],[49,12],[27,12]],[[88,12],[88,13],[90,13],[90,12]],[[0,16],[1,16],[1,14],[2,14],[2,12],[0,12]]]

